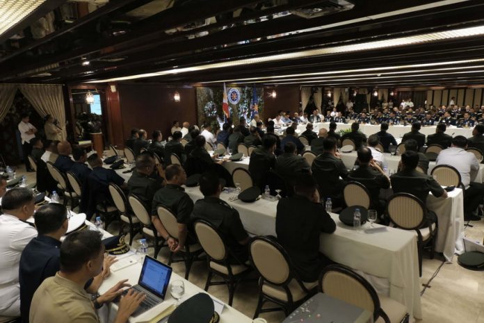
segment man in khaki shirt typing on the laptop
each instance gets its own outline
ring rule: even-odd
[[[104,245],[101,233],[83,230],[67,235],[61,245],[61,270],[42,282],[31,303],[29,321],[98,323],[96,309],[120,297],[127,280],[116,283],[104,295],[91,301],[83,286],[102,272]],[[121,297],[114,322],[127,322],[145,295],[129,290]]]

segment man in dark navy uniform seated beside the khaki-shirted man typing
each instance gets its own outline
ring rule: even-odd
[[[29,322],[29,311],[33,293],[47,277],[55,276],[60,269],[59,256],[61,237],[67,232],[67,208],[62,204],[51,203],[41,206],[35,212],[35,227],[38,236],[33,238],[20,257],[20,312],[22,322]],[[85,289],[95,294],[102,281],[110,274],[109,267],[115,261],[114,256],[104,258],[101,274],[88,281]],[[102,297],[98,297],[102,303]]]

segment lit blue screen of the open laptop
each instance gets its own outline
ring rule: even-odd
[[[164,299],[168,283],[170,282],[171,273],[172,268],[170,266],[146,256],[143,268],[141,269],[138,285],[141,285],[143,288],[150,290],[154,295]]]

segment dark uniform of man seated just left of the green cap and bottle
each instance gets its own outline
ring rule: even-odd
[[[192,220],[205,220],[215,226],[225,238],[225,243],[232,254],[231,263],[245,263],[248,260],[248,245],[241,245],[239,241],[248,238],[243,229],[239,212],[218,197],[205,197],[195,202]],[[238,260],[238,261],[237,261]]]

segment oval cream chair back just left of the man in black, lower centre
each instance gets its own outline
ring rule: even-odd
[[[249,245],[252,265],[260,276],[275,285],[284,285],[291,281],[291,266],[286,251],[266,237],[256,237]]]

